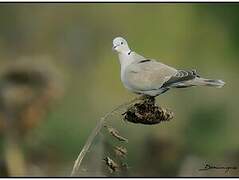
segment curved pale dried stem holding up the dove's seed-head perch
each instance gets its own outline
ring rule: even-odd
[[[92,131],[92,133],[88,137],[88,139],[87,139],[83,149],[81,150],[80,154],[78,155],[77,159],[75,160],[75,163],[74,163],[74,166],[73,166],[73,169],[72,169],[72,172],[71,172],[71,176],[75,176],[75,175],[77,175],[77,172],[79,172],[79,168],[80,168],[81,162],[82,162],[83,158],[85,157],[86,153],[88,152],[88,150],[89,150],[89,148],[90,148],[90,146],[91,146],[95,136],[100,132],[102,126],[104,125],[104,123],[106,121],[106,118],[109,117],[116,110],[118,110],[118,109],[120,109],[120,108],[122,108],[124,106],[130,105],[130,104],[134,103],[137,100],[141,100],[142,98],[144,98],[144,97],[140,96],[140,97],[137,97],[137,98],[133,99],[130,102],[121,104],[121,105],[117,106],[116,108],[114,108],[112,111],[106,113],[100,119],[100,121],[96,125],[95,129]]]

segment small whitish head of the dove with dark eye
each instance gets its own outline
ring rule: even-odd
[[[116,37],[113,40],[113,48],[114,51],[118,53],[128,53],[130,52],[130,48],[128,46],[127,41],[122,37]]]

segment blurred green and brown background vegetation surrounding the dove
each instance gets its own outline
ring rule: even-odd
[[[1,72],[27,57],[57,69],[58,90],[64,89],[39,115],[42,121],[18,138],[27,175],[70,175],[99,117],[135,96],[121,84],[111,51],[112,39],[122,36],[146,57],[226,82],[222,89],[179,89],[158,97],[175,113],[168,123],[119,122],[129,133],[127,175],[238,176],[238,169],[198,171],[204,162],[239,168],[237,4],[1,4],[0,23]],[[0,175],[6,176],[9,130],[2,121]]]

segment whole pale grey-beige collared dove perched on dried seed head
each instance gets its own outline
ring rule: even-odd
[[[113,40],[112,49],[117,52],[121,81],[129,91],[156,97],[173,88],[209,86],[221,88],[222,80],[205,79],[196,70],[178,70],[160,61],[132,51],[122,37]]]

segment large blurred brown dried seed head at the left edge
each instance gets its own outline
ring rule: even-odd
[[[61,97],[62,85],[58,70],[47,57],[20,58],[2,67],[0,133],[12,126],[22,136],[35,128]]]

